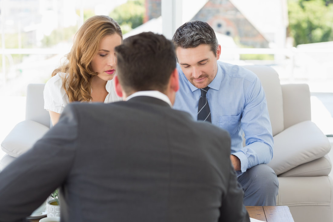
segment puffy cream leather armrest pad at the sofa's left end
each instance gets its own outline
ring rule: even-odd
[[[8,155],[18,157],[32,147],[49,127],[32,120],[24,120],[14,126],[1,143],[1,149]]]

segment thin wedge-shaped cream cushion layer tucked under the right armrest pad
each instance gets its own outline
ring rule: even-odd
[[[331,172],[332,164],[328,155],[303,163],[279,175],[287,176],[327,176]]]

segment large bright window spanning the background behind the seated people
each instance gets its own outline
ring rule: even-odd
[[[78,28],[93,15],[113,17],[125,38],[143,31],[171,38],[184,22],[202,20],[216,32],[222,61],[269,65],[281,83],[333,93],[332,5],[331,0],[0,0],[0,141],[24,119],[26,86],[51,77]],[[309,38],[323,42],[307,44]]]

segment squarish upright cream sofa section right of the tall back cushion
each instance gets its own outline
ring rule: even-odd
[[[296,123],[311,120],[310,89],[307,84],[281,85],[283,123],[288,128]]]

